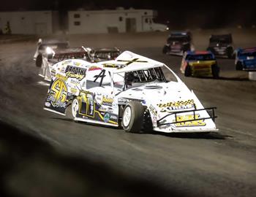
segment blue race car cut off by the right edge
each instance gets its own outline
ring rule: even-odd
[[[235,50],[236,70],[256,71],[256,47]]]

